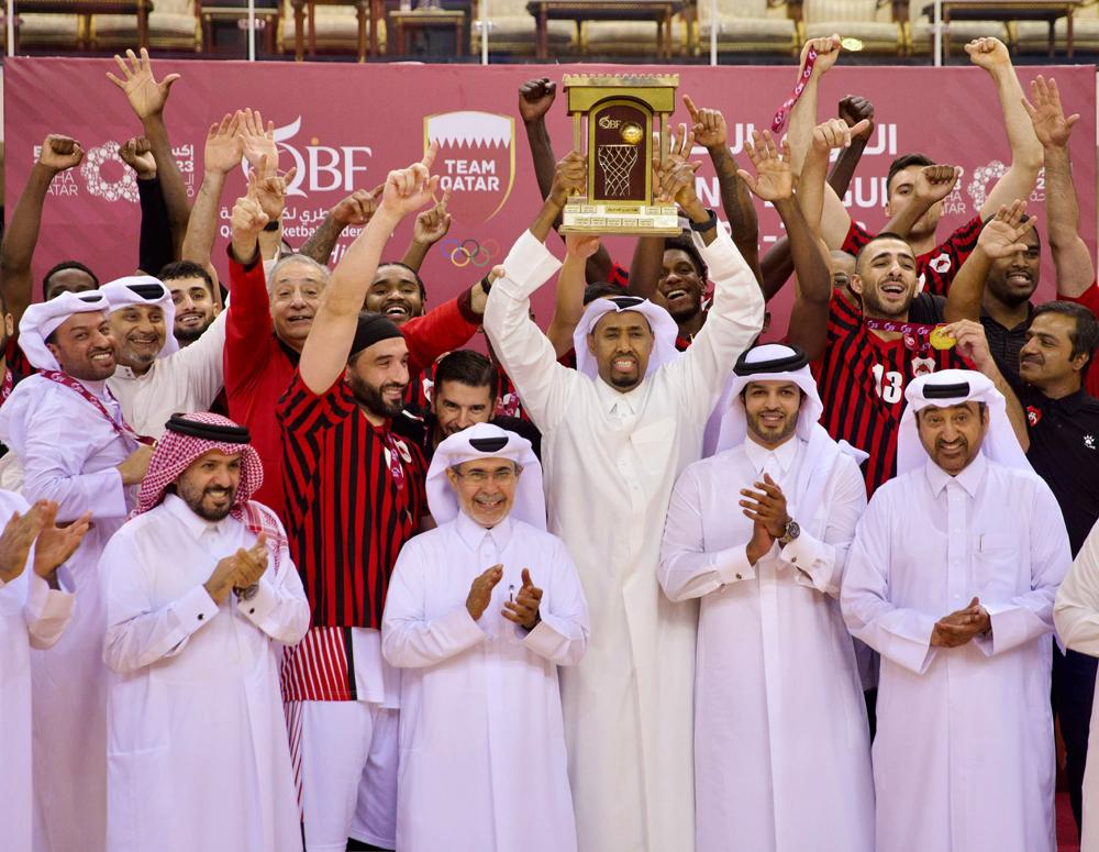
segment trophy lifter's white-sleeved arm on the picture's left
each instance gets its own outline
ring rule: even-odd
[[[576,370],[557,363],[553,344],[531,319],[531,294],[560,267],[544,243],[570,191],[584,191],[586,163],[584,155],[571,152],[557,164],[548,198],[498,267],[501,277],[492,286],[485,308],[485,333],[515,383],[525,411],[543,434],[560,422],[569,390],[579,377]]]

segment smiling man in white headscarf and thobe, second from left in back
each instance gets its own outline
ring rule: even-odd
[[[173,334],[171,291],[147,275],[120,278],[100,290],[111,303],[119,368],[108,380],[130,425],[159,438],[175,413],[207,411],[225,384],[224,311],[186,348]]]

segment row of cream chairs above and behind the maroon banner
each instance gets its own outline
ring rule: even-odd
[[[480,51],[481,27],[477,1],[444,2],[464,8],[471,26],[466,30],[473,54]],[[536,27],[528,12],[528,0],[488,2],[489,49],[492,53],[530,56],[535,49]],[[81,0],[33,0],[35,12],[24,13],[16,0],[18,49],[38,52],[116,52],[137,42],[134,14],[73,13]],[[148,0],[146,0],[148,2]],[[231,0],[232,2],[232,0]],[[238,0],[237,0],[238,2]],[[331,0],[329,0],[331,2]],[[365,3],[366,0],[359,0]],[[856,38],[863,52],[874,56],[921,57],[930,55],[932,23],[925,13],[929,0],[718,0],[713,20],[708,0],[691,0],[671,27],[675,56],[704,55],[711,31],[718,27],[718,52],[723,56],[797,56],[807,38],[840,32]],[[280,3],[280,4],[279,4]],[[55,5],[57,12],[37,11]],[[91,7],[102,8],[92,1]],[[240,18],[240,5],[226,9],[224,0],[155,0],[147,15],[148,47],[162,53],[202,53],[211,41],[211,21]],[[257,2],[263,33],[257,40],[264,53],[293,54],[295,14],[290,0]],[[211,8],[213,8],[211,10]],[[315,9],[318,53],[354,54],[358,19],[352,0]],[[1099,0],[1085,0],[1075,14],[1075,46],[1080,54],[1099,52]],[[308,22],[306,26],[308,27]],[[367,26],[371,26],[367,23]],[[385,20],[378,21],[378,42],[385,49]],[[470,32],[471,30],[471,32]],[[308,30],[306,31],[308,33]],[[1057,48],[1066,46],[1066,22],[1056,22]],[[1020,53],[1042,54],[1048,45],[1045,23],[1019,21],[952,22],[946,37],[961,53],[972,38],[995,35]],[[656,25],[648,22],[550,21],[550,56],[652,56],[656,53]]]

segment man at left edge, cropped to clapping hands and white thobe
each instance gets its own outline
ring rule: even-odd
[[[31,849],[31,649],[52,648],[73,615],[73,578],[63,563],[89,518],[57,529],[57,504],[33,507],[0,491],[0,826],[2,848]],[[65,574],[62,578],[58,575]]]

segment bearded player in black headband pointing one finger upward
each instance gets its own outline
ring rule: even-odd
[[[287,532],[313,612],[282,665],[308,852],[348,837],[395,847],[399,678],[378,629],[397,554],[420,527],[426,466],[399,434],[409,347],[390,320],[360,311],[389,234],[439,184],[436,150],[389,174],[278,403]]]

